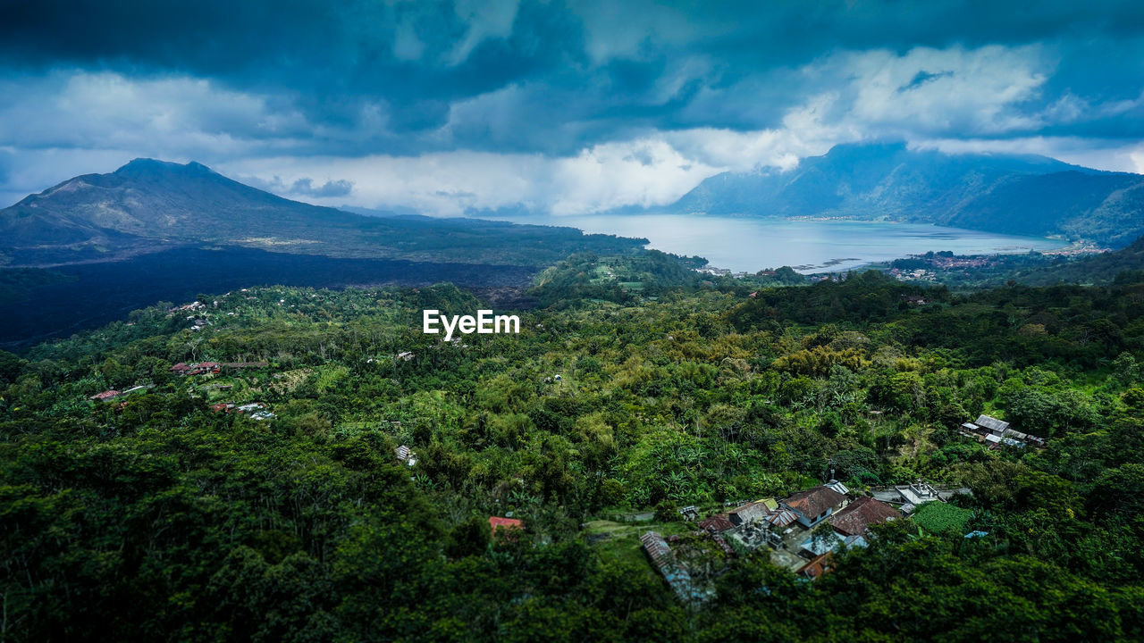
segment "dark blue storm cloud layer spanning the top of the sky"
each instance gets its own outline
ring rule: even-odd
[[[1144,61],[1144,5],[1111,1],[49,0],[3,15],[9,69],[185,73],[332,128],[380,110],[384,133],[329,143],[349,153],[571,153],[646,129],[772,127],[812,85],[792,70],[840,50],[1040,42],[1058,57],[1048,89],[1099,101],[1136,97]],[[454,109],[482,97],[469,118]]]

